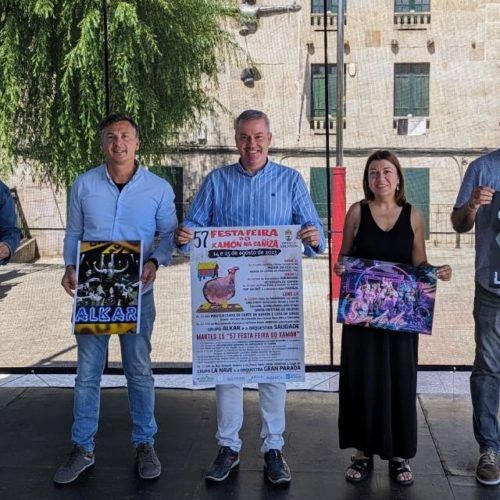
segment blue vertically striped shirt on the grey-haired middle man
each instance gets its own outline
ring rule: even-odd
[[[255,175],[240,163],[210,172],[196,194],[185,227],[316,226],[323,252],[323,226],[296,170],[268,161]],[[182,248],[186,250],[187,247]]]

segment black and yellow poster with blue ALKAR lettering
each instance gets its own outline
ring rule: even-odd
[[[142,241],[80,241],[73,333],[138,333],[141,272]]]

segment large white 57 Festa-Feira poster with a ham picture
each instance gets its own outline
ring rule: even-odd
[[[300,226],[195,230],[195,385],[304,381],[299,230]]]

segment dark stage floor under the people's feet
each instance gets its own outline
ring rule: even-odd
[[[391,483],[387,464],[375,459],[374,474],[360,485],[343,477],[351,450],[339,450],[335,393],[295,391],[288,395],[285,455],[289,487],[270,485],[262,472],[256,391],[245,393],[241,464],[218,485],[203,477],[216,452],[213,391],[158,390],[157,451],[163,474],[155,482],[137,478],[128,443],[130,425],[124,389],[105,389],[97,435],[96,466],[75,484],[56,487],[52,475],[68,451],[72,390],[0,389],[0,498],[331,500],[498,500],[500,487],[475,482],[476,445],[468,396],[426,395],[417,399],[418,453],[415,484]]]

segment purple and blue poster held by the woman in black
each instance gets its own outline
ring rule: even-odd
[[[436,268],[344,257],[337,322],[431,334]]]

